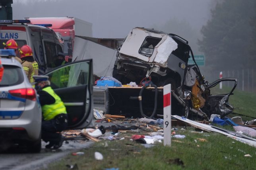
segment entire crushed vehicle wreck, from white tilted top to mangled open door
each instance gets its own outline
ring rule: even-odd
[[[188,65],[189,57],[196,63],[188,41],[184,38],[136,27],[129,32],[118,49],[113,77],[122,84],[136,82],[143,85],[143,80],[149,80],[144,81],[144,85],[155,84],[157,87],[171,84],[173,114],[209,119],[211,114],[224,117],[232,113],[234,108],[229,104],[229,96],[233,94],[238,79],[221,78],[209,84],[197,64]],[[227,81],[233,82],[231,91],[211,94],[211,88]],[[148,109],[154,107],[152,103],[143,105]],[[159,108],[157,113],[163,114]]]

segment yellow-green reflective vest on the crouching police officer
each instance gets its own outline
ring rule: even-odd
[[[61,113],[67,114],[64,103],[61,101],[60,97],[52,90],[50,86],[43,88],[43,91],[47,92],[48,94],[50,94],[50,96],[54,97],[55,99],[55,103],[50,105],[43,105],[42,111],[44,120],[51,120],[56,115],[59,115]]]

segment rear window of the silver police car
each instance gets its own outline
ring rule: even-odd
[[[0,86],[14,86],[20,84],[24,80],[22,69],[12,65],[3,65],[4,74]]]

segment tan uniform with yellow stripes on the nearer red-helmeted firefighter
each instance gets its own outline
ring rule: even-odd
[[[21,60],[21,65],[29,79],[29,82],[33,83],[33,76],[38,75],[38,63],[34,60],[33,56],[22,57]]]

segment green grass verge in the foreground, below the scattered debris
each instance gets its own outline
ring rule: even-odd
[[[180,129],[180,128],[179,128]],[[66,164],[77,164],[82,170],[104,170],[119,168],[120,170],[252,170],[255,169],[255,148],[240,143],[222,134],[192,133],[194,128],[178,130],[176,134],[186,135],[184,139],[175,139],[172,146],[158,143],[154,147],[145,148],[139,143],[125,140],[101,141],[93,147],[82,150],[85,154],[68,155],[60,162],[51,164],[47,169],[66,170]],[[129,136],[129,134],[125,134]],[[131,134],[130,134],[131,136]],[[201,142],[198,138],[207,141]],[[197,140],[197,143],[194,140]],[[108,147],[104,147],[105,142]],[[94,152],[103,154],[103,160],[95,160]],[[250,154],[252,157],[244,157]],[[184,165],[175,163],[180,159]]]

